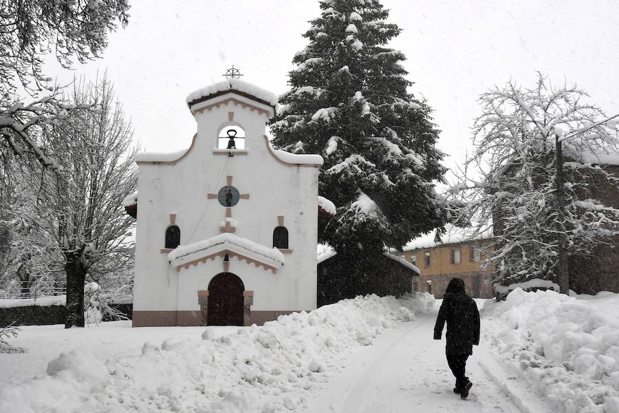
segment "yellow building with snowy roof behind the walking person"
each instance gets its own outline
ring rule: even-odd
[[[468,295],[494,297],[494,266],[483,266],[489,255],[490,240],[466,240],[458,231],[448,232],[441,238],[437,238],[435,232],[428,233],[409,242],[404,251],[398,253],[420,270],[419,277],[413,281],[413,291],[442,298],[450,279],[458,277],[464,279]]]

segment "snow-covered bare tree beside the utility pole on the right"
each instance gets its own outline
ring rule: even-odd
[[[475,151],[451,195],[463,202],[460,212],[475,233],[492,231],[498,284],[560,282],[562,239],[567,255],[588,255],[619,233],[619,209],[587,198],[593,182],[617,184],[591,164],[617,151],[618,136],[616,124],[587,97],[575,86],[552,87],[541,74],[532,89],[510,81],[481,95]],[[568,135],[564,170],[556,142]]]

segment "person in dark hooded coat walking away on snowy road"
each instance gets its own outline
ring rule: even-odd
[[[466,360],[473,354],[473,346],[479,345],[479,311],[475,301],[466,295],[461,278],[452,278],[445,290],[434,326],[435,340],[441,339],[445,322],[447,364],[456,379],[453,391],[466,399],[473,385],[465,375]]]

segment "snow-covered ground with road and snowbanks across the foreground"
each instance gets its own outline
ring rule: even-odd
[[[263,327],[28,326],[12,343],[29,352],[0,354],[0,412],[618,413],[618,297],[476,300],[466,401],[432,339],[440,300],[425,293]]]

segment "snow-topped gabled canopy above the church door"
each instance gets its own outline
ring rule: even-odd
[[[224,250],[242,254],[270,266],[277,267],[284,264],[283,254],[277,248],[269,248],[231,233],[223,233],[193,244],[177,246],[168,254],[168,261],[174,266],[179,266]]]

